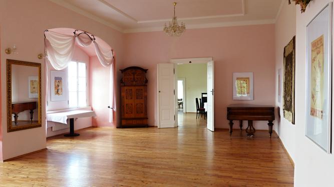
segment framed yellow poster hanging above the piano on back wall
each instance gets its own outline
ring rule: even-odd
[[[233,100],[253,99],[253,72],[233,72]]]

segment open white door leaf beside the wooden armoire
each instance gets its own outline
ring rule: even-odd
[[[175,126],[174,64],[158,63],[158,128]]]

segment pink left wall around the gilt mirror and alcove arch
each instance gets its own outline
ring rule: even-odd
[[[20,12],[20,13],[13,13]],[[11,16],[8,16],[11,15]],[[19,54],[1,50],[1,103],[3,159],[29,153],[46,147],[46,123],[42,127],[7,132],[6,58],[39,62],[42,64],[42,95],[45,95],[44,60],[37,55],[44,51],[44,30],[69,27],[92,32],[105,40],[122,61],[123,33],[92,20],[49,0],[0,0],[1,48],[17,45]],[[118,69],[119,67],[117,67]],[[42,98],[42,118],[46,117],[45,98]]]

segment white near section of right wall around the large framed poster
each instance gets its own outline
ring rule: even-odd
[[[296,66],[295,66],[295,186],[334,186],[334,143],[331,143],[332,153],[328,154],[317,146],[313,141],[305,136],[305,90],[306,90],[306,46],[310,45],[306,41],[306,25],[313,17],[321,11],[327,3],[332,0],[313,0],[306,11],[301,13],[299,5],[296,6]],[[331,24],[334,19],[331,17]],[[333,35],[333,32],[330,33]],[[331,48],[333,53],[334,48]],[[332,83],[334,76],[332,76]],[[332,98],[334,90],[331,89]],[[331,121],[334,121],[334,106],[331,105]],[[334,128],[331,128],[331,141],[333,141]]]

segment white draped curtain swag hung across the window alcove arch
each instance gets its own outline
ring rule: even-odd
[[[101,64],[104,67],[110,67],[109,105],[112,109],[109,110],[109,122],[112,122],[113,110],[116,111],[115,52],[111,48],[102,48],[95,39],[92,39],[86,33],[67,35],[51,30],[45,32],[45,49],[48,54],[48,60],[57,70],[68,66],[73,58],[76,43],[82,47],[87,47],[93,43],[95,53]],[[48,67],[46,66],[46,68]],[[46,79],[48,83],[48,73]]]

